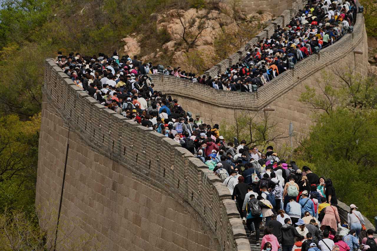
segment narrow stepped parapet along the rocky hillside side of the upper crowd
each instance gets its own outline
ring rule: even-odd
[[[236,53],[230,55],[228,58],[222,60],[215,66],[212,66],[210,69],[204,72],[204,75],[215,77],[219,74],[225,72],[228,67],[231,67],[233,64],[238,63],[242,58],[246,56],[246,53],[250,48],[253,47],[258,41],[261,41],[263,38],[271,37],[274,31],[277,29],[277,26],[285,27],[290,22],[291,18],[296,15],[299,9],[302,9],[307,1],[305,0],[294,0],[292,2],[292,8],[283,11],[279,17],[273,20],[263,31],[259,32],[253,39],[248,41],[244,46],[242,46]]]

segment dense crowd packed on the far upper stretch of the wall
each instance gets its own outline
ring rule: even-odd
[[[352,0],[311,0],[287,27],[278,25],[271,37],[254,44],[240,63],[217,77],[203,76],[195,81],[217,90],[254,92],[297,62],[336,42],[349,31],[356,13]]]

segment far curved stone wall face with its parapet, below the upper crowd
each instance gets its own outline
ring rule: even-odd
[[[295,138],[307,135],[313,125],[311,109],[298,99],[308,85],[321,93],[319,84],[322,70],[351,67],[354,73],[366,75],[368,64],[368,45],[364,18],[357,14],[354,32],[346,34],[333,45],[322,49],[295,64],[290,69],[274,78],[255,93],[228,92],[215,90],[202,84],[192,83],[171,76],[152,75],[156,90],[178,98],[179,103],[193,114],[200,114],[205,122],[221,123],[234,121],[234,110],[256,112],[257,117],[265,116],[265,107],[274,108],[268,112],[269,119],[277,122],[276,133],[288,136],[290,122],[293,122]],[[334,83],[338,81],[334,79]]]

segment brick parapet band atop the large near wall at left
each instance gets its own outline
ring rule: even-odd
[[[47,59],[43,92],[71,130],[103,156],[129,168],[204,220],[226,251],[250,251],[228,188],[180,144],[99,104]]]

